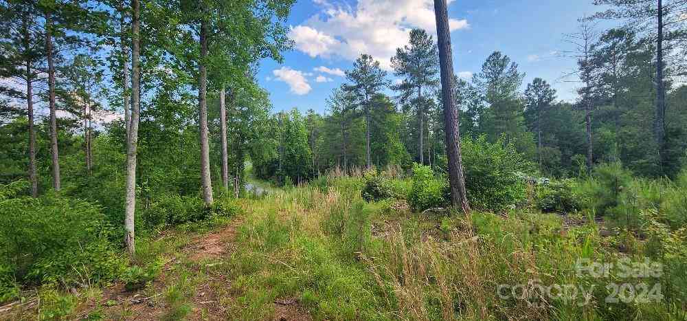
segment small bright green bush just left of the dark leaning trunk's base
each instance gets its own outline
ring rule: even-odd
[[[448,193],[449,184],[445,177],[435,177],[429,166],[413,164],[413,184],[407,197],[413,210],[445,207]]]

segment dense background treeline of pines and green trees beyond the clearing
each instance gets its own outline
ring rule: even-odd
[[[400,77],[396,85],[379,69],[379,62],[362,55],[347,71],[348,82],[331,94],[326,113],[289,118],[289,126],[307,133],[280,132],[284,143],[274,148],[295,144],[294,140],[302,140],[303,146],[308,142],[307,157],[317,159],[309,162],[313,173],[367,167],[370,150],[370,163],[378,168],[409,169],[418,162],[445,170],[436,44],[423,30],[412,30],[410,41],[392,58]],[[578,73],[589,75],[585,79],[592,87],[583,82],[578,100],[564,102],[546,80],[534,78],[523,84],[525,74],[517,63],[494,52],[471,80],[456,80],[461,133],[513,144],[537,164],[540,175],[575,177],[587,173],[589,165],[619,161],[638,175],[675,177],[686,157],[687,86],[679,82],[682,78],[665,81],[666,143],[659,153],[653,143],[655,56],[651,39],[631,28],[607,30],[589,43],[587,60],[578,61]],[[680,63],[673,68],[684,67],[684,61]],[[264,178],[308,177],[301,168],[280,172],[276,166],[260,164],[271,163],[258,164]]]

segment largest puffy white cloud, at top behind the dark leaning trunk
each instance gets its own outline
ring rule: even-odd
[[[410,29],[436,33],[432,0],[359,0],[354,8],[318,3],[323,10],[289,32],[295,47],[311,57],[370,54],[391,69],[390,58],[408,42]],[[467,27],[466,20],[449,19],[451,31]]]

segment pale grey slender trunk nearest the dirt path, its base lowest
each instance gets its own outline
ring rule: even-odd
[[[138,144],[138,121],[141,103],[140,53],[140,4],[131,0],[131,124],[126,139],[126,214],[124,217],[124,243],[129,254],[135,253],[134,217],[136,211],[136,153]]]

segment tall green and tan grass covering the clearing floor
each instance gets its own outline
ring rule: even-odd
[[[139,240],[139,265],[180,260],[157,287],[144,290],[146,296],[159,292],[156,309],[166,320],[190,318],[194,311],[200,318],[265,320],[275,317],[280,300],[295,300],[315,320],[685,318],[685,232],[661,225],[656,214],[643,214],[643,221],[655,223],[642,236],[627,230],[602,236],[607,227],[594,219],[594,211],[567,217],[527,208],[467,217],[417,214],[402,199],[363,201],[362,186],[359,177],[322,177],[267,197],[242,199],[245,214],[232,251],[218,258],[190,261],[188,244],[194,235],[222,228],[227,219]],[[613,270],[595,278],[577,269],[580,259],[644,258],[664,263],[664,273],[637,278]],[[618,296],[609,285],[624,283],[658,284],[664,298],[607,302]],[[194,302],[203,285],[216,301],[212,309]],[[568,285],[581,293],[563,295],[570,294],[560,292],[570,290]],[[554,286],[561,295],[542,291]],[[508,291],[514,288],[519,291]],[[51,289],[41,296],[37,316],[51,311],[74,317],[83,301]],[[130,306],[116,308],[95,307],[91,314],[131,317]]]

